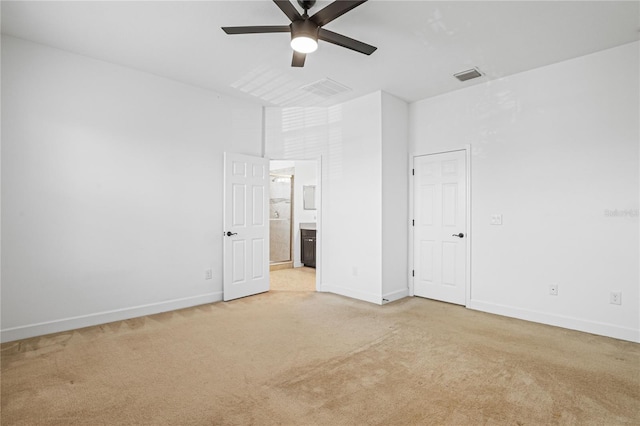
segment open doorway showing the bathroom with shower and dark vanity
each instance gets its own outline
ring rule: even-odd
[[[269,173],[270,290],[316,291],[318,161],[271,160]]]

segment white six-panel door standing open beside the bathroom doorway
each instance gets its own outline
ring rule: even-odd
[[[225,301],[269,291],[269,160],[224,154]]]

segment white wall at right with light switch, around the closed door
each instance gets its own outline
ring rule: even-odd
[[[640,341],[639,59],[632,43],[411,105],[414,153],[472,146],[469,307]]]

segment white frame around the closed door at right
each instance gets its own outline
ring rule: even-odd
[[[460,149],[451,149],[447,151],[433,151],[433,152],[425,152],[425,153],[411,153],[409,154],[409,296],[414,296],[414,276],[413,271],[415,270],[414,265],[414,250],[413,244],[415,240],[415,228],[413,226],[414,221],[414,179],[413,179],[413,164],[416,157],[423,157],[426,155],[435,155],[435,154],[445,154],[447,152],[457,152],[464,151],[466,157],[466,176],[467,176],[467,209],[465,212],[466,215],[466,226],[467,226],[467,253],[466,253],[466,274],[465,274],[465,306],[469,306],[469,301],[471,300],[471,240],[473,238],[473,232],[471,230],[471,145],[464,145],[463,148]]]

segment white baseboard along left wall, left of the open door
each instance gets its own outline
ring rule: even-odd
[[[145,315],[159,314],[161,312],[174,311],[176,309],[190,308],[192,306],[219,302],[222,300],[222,292],[202,294],[199,296],[185,297],[182,299],[167,300],[164,302],[150,303],[148,305],[134,306],[131,308],[115,309],[112,311],[98,312],[95,314],[81,315],[77,317],[62,318],[37,324],[12,327],[0,331],[1,342],[26,339],[45,334],[59,333],[77,328],[106,324]]]

